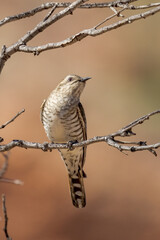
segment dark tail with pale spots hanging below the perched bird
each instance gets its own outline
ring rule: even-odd
[[[73,205],[77,208],[85,207],[86,196],[83,183],[83,172],[79,171],[72,176],[69,174],[69,185]]]

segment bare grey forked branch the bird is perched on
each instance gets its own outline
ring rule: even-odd
[[[137,120],[131,122],[129,125],[121,128],[115,133],[109,134],[107,136],[96,136],[91,139],[88,139],[86,141],[73,143],[72,149],[77,147],[82,147],[85,145],[90,145],[97,142],[105,142],[109,146],[115,147],[120,151],[144,151],[148,150],[151,153],[153,153],[155,156],[157,155],[154,149],[157,149],[160,147],[160,142],[147,145],[146,141],[139,141],[139,142],[128,142],[128,141],[120,141],[116,140],[116,137],[130,137],[132,135],[135,135],[135,133],[132,132],[132,128],[136,127],[139,124],[144,123],[144,121],[148,120],[151,116],[154,116],[156,114],[159,114],[160,110],[154,111],[152,113],[149,113],[143,117],[138,118]],[[131,145],[131,146],[130,146]],[[28,142],[24,140],[13,140],[8,144],[0,145],[0,152],[9,151],[12,148],[15,147],[21,147],[25,149],[41,149],[43,151],[52,151],[53,149],[70,149],[70,146],[68,143],[37,143],[37,142]]]

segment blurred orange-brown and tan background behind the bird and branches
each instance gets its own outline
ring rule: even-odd
[[[0,18],[27,11],[43,2],[47,1],[2,1]],[[2,26],[0,45],[15,43],[46,14],[44,11]],[[96,25],[110,14],[109,9],[76,10],[39,34],[29,45],[60,41]],[[92,77],[81,97],[88,138],[115,132],[159,109],[159,22],[160,14],[156,14],[38,57],[14,54],[0,76],[0,125],[22,108],[26,112],[1,130],[5,143],[12,139],[48,141],[39,118],[40,106],[70,73]],[[132,140],[159,142],[159,122],[157,115],[136,127],[137,136]],[[105,143],[90,145],[85,164],[87,206],[76,209],[71,203],[67,172],[57,150],[51,153],[11,150],[5,177],[21,179],[24,185],[0,183],[0,196],[5,193],[7,199],[10,236],[16,240],[158,240],[160,150],[157,153],[157,158],[148,151],[125,155]],[[2,156],[0,164],[3,164]],[[0,236],[4,239],[2,211],[0,216]]]

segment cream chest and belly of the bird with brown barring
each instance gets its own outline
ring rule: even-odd
[[[78,114],[79,100],[52,95],[43,109],[43,125],[50,141],[63,143],[83,140],[83,129]]]

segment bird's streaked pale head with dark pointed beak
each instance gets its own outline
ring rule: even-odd
[[[77,75],[68,75],[65,79],[58,85],[58,90],[64,93],[64,95],[80,97],[86,81],[90,77],[82,78]]]

